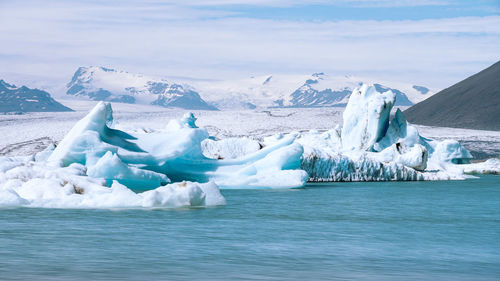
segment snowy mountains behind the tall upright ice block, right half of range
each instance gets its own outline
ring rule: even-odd
[[[411,106],[434,94],[423,86],[324,73],[193,83],[205,100],[219,108],[345,106],[352,90],[362,83],[373,84],[380,92],[392,90],[397,106]]]

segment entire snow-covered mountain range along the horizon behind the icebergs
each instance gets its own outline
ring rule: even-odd
[[[362,83],[392,90],[397,106],[411,106],[434,94],[423,86],[354,76],[267,75],[238,80],[170,80],[104,67],[80,67],[67,94],[92,100],[175,106],[185,109],[345,106]]]

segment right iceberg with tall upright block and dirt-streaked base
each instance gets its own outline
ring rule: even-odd
[[[472,155],[455,140],[419,135],[397,109],[391,91],[374,86],[354,89],[343,114],[343,126],[296,139],[304,147],[301,168],[310,181],[409,181],[464,179],[474,172],[495,173],[498,162],[468,164]],[[267,139],[268,142],[270,139]]]

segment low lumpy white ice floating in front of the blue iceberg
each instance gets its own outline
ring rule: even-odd
[[[0,172],[0,207],[175,208],[225,204],[213,182],[182,182],[135,193],[117,181],[107,187],[103,179],[86,176],[81,164],[54,167],[26,159],[10,160],[15,167]]]

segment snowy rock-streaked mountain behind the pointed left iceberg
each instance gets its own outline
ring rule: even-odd
[[[66,94],[91,100],[217,110],[189,85],[105,67],[80,67],[66,86]]]

